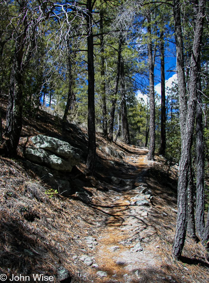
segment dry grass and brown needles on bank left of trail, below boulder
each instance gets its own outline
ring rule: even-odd
[[[55,275],[62,266],[77,277],[78,268],[86,267],[72,257],[88,252],[77,237],[97,229],[92,209],[62,196],[49,198],[50,187],[15,161],[0,157],[0,164],[1,272]]]

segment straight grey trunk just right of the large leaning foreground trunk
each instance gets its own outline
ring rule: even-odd
[[[198,80],[197,104],[196,104],[196,145],[197,145],[197,182],[196,182],[196,229],[197,234],[202,239],[205,220],[205,194],[204,194],[204,147],[202,129],[202,99],[201,82]]]

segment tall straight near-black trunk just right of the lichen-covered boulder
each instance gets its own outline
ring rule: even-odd
[[[95,99],[94,99],[94,45],[92,32],[92,1],[87,0],[87,49],[88,49],[88,156],[87,167],[90,173],[95,168]]]

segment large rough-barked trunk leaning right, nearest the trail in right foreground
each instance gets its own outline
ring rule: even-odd
[[[176,19],[176,15],[180,17],[179,10],[179,1],[174,0],[174,19]],[[181,136],[182,131],[184,132],[184,137],[182,136],[182,152],[181,152],[181,161],[180,161],[180,171],[179,171],[179,179],[178,179],[178,213],[177,213],[177,223],[176,223],[176,233],[173,243],[173,255],[178,259],[181,256],[184,241],[186,237],[186,222],[187,222],[187,186],[189,181],[189,170],[190,170],[190,162],[191,162],[191,144],[192,144],[192,136],[194,130],[194,114],[195,114],[195,103],[196,103],[196,95],[197,95],[197,83],[198,83],[198,66],[200,60],[200,46],[202,40],[202,30],[203,30],[203,22],[205,15],[205,0],[199,1],[199,9],[196,21],[196,27],[194,32],[194,41],[193,41],[193,55],[191,56],[190,63],[190,80],[189,80],[189,95],[188,95],[188,105],[187,105],[187,115],[186,115],[186,125],[183,130],[182,123],[185,121],[185,117],[183,117],[183,121],[180,116],[180,125],[181,125]],[[178,22],[179,24],[179,22]],[[176,20],[175,20],[175,31],[176,31]],[[176,37],[176,34],[175,34]],[[176,49],[177,51],[177,49]],[[177,54],[178,57],[178,54]],[[177,62],[178,66],[178,62]],[[178,77],[178,82],[179,82]],[[185,81],[184,81],[185,84]],[[178,86],[180,89],[180,86]],[[184,99],[184,97],[183,97]],[[180,108],[183,107],[182,103],[180,104]],[[184,109],[181,109],[181,113],[183,113]],[[183,115],[184,116],[184,115]]]

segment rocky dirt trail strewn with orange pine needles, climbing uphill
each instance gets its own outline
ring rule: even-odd
[[[110,282],[134,282],[133,280],[141,282],[140,279],[144,280],[147,269],[160,268],[161,259],[156,256],[158,248],[156,230],[149,223],[152,201],[149,200],[150,195],[139,193],[140,189],[145,189],[144,193],[149,189],[144,182],[144,176],[152,162],[147,161],[146,157],[147,150],[134,148],[133,153],[126,158],[126,162],[137,170],[124,170],[120,175],[114,172],[114,177],[132,182],[132,188],[124,189],[114,185],[111,190],[109,187],[109,192],[106,193],[108,202],[104,200],[100,203],[103,211],[109,216],[106,217],[106,227],[102,228],[97,239],[96,270],[107,272]],[[138,202],[146,200],[145,205],[139,205],[141,203],[138,204],[137,200]],[[107,208],[110,202],[113,207]],[[105,280],[105,273],[99,275],[104,275]]]

